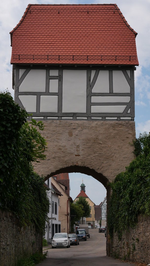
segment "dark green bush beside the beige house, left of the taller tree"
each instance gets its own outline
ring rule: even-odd
[[[83,205],[78,204],[78,201],[72,202],[70,204],[70,214],[76,215],[75,217],[71,217],[71,227],[73,227],[76,221],[79,221],[83,216]]]

